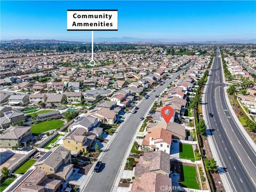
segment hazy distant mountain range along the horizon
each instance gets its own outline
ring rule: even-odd
[[[1,43],[90,43],[91,39],[85,41],[67,41],[57,39],[12,39],[3,40]],[[239,44],[256,44],[256,39],[225,39],[222,41],[177,41],[171,39],[147,39],[147,38],[133,38],[133,37],[122,37],[122,38],[95,38],[95,43],[177,43],[177,44],[188,44],[188,43],[202,43],[202,44],[227,44],[227,43],[239,43]]]

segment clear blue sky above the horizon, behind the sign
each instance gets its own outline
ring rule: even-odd
[[[67,9],[118,9],[118,31],[94,38],[256,38],[255,1],[1,1],[1,39],[90,39],[90,31],[67,31]]]

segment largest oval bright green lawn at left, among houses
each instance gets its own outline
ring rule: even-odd
[[[52,121],[45,121],[38,124],[33,124],[31,126],[32,133],[43,133],[45,131],[55,130],[64,125],[64,122],[60,119],[55,119]]]

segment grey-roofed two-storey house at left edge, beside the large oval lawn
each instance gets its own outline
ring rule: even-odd
[[[30,126],[17,126],[1,134],[0,147],[12,148],[15,146],[26,147],[33,140]]]

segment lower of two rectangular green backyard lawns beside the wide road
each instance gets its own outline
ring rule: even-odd
[[[199,189],[196,177],[196,167],[182,165],[180,171],[180,180],[183,187]]]

